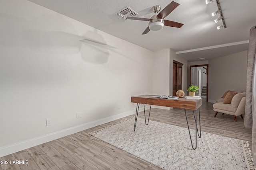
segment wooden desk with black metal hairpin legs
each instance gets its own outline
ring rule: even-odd
[[[151,96],[156,96],[156,95],[145,94],[145,95],[132,96],[131,97],[131,102],[132,103],[137,103],[135,122],[134,122],[134,131],[136,129],[136,123],[137,123],[137,118],[138,118],[138,112],[139,112],[140,104],[149,104],[150,105],[150,110],[151,110],[151,105],[181,108],[181,109],[184,109],[185,115],[186,115],[186,109],[193,110],[194,119],[195,119],[195,125],[196,125],[196,133],[198,134],[199,138],[201,137],[200,106],[202,106],[202,99],[178,98],[176,100],[172,100],[172,99],[150,98]],[[197,127],[197,113],[196,113],[197,109],[198,109],[198,114],[199,114],[200,135],[199,135],[199,132],[198,132],[198,127]],[[145,117],[145,124],[148,125],[148,123],[146,123],[145,106],[144,106],[144,117]],[[149,122],[149,117],[150,117],[150,111],[149,111],[149,115],[148,115],[148,122]],[[188,125],[187,115],[186,115],[186,121],[187,121],[187,125]],[[188,125],[188,132],[189,132],[192,148],[196,149],[196,147],[197,147],[197,139],[196,139],[196,146],[193,147],[193,143],[192,143],[192,139],[191,139],[191,135],[190,135],[189,125]],[[196,134],[196,138],[197,138],[197,134]]]

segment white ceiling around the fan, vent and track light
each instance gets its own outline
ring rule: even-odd
[[[175,0],[180,5],[165,19],[184,23],[181,28],[167,27],[160,31],[142,32],[148,21],[122,20],[116,12],[129,6],[140,18],[151,18],[152,6],[162,9],[171,0],[29,0],[45,8],[78,20],[101,31],[152,51],[172,49],[188,61],[222,57],[248,49],[249,31],[256,25],[256,0],[220,0],[226,29],[217,30],[219,15],[216,2]]]

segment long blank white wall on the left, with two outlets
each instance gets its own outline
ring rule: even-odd
[[[32,2],[1,1],[0,30],[0,157],[133,114],[130,97],[153,92],[152,51]]]

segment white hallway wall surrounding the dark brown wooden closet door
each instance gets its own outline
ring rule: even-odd
[[[182,67],[182,90],[185,92],[188,90],[188,61],[182,57],[176,55],[172,49],[170,49],[170,92],[172,93],[172,62],[173,60],[183,63]]]

